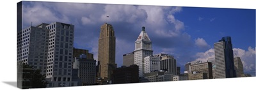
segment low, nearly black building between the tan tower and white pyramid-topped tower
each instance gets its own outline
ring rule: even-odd
[[[122,66],[116,68],[112,75],[113,84],[127,84],[139,82],[139,66],[132,64],[131,66]]]

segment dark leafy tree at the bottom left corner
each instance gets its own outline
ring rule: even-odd
[[[32,65],[18,64],[18,70],[22,73],[22,89],[42,88],[49,84],[45,80],[45,74],[41,74],[41,70],[34,69]]]

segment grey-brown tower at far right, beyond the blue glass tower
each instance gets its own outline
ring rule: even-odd
[[[242,75],[244,74],[244,68],[240,57],[234,57],[234,65],[236,70],[236,76],[242,77]]]

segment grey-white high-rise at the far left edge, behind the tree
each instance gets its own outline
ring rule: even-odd
[[[48,24],[30,26],[17,32],[17,63],[25,63],[46,73],[49,29]]]

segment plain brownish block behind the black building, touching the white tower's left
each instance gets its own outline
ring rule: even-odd
[[[131,66],[134,64],[134,52],[123,55],[123,66]]]

